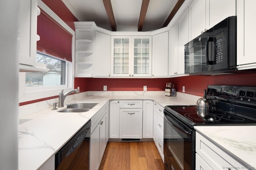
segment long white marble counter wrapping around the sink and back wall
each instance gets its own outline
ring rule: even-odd
[[[86,122],[109,100],[154,100],[161,106],[167,105],[195,105],[198,96],[192,100],[181,97],[148,96],[144,93],[134,95],[115,96],[85,96],[68,103],[91,102],[99,103],[88,112],[84,113],[60,113],[58,110],[51,110],[52,107],[20,117],[18,160],[19,170],[36,170],[40,168],[84,125]],[[97,95],[92,92],[90,95]],[[196,100],[195,100],[196,99]],[[51,101],[52,102],[52,101]],[[49,102],[46,102],[47,104]],[[34,104],[33,107],[41,107],[41,104]],[[49,104],[48,104],[49,105]],[[20,106],[20,110],[30,111],[30,106]],[[35,108],[31,108],[35,109]],[[23,114],[23,113],[22,113]]]

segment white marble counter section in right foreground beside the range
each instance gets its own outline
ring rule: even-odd
[[[256,126],[194,126],[196,131],[252,169],[256,168]]]

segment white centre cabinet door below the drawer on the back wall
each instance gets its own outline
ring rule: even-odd
[[[142,109],[120,109],[120,138],[142,139]]]

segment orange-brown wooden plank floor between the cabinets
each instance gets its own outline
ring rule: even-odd
[[[154,142],[108,142],[99,170],[164,170]]]

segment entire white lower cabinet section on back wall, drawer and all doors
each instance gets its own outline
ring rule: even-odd
[[[152,100],[111,100],[109,138],[152,138],[153,109]]]

